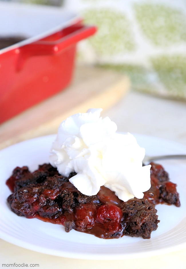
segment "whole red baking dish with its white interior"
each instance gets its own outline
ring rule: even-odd
[[[76,44],[96,32],[76,13],[55,7],[0,2],[1,38],[25,40],[0,50],[0,123],[64,89]],[[7,24],[3,24],[7,17]]]

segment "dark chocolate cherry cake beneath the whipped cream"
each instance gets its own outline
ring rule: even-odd
[[[6,182],[13,191],[7,199],[11,210],[18,216],[62,224],[66,232],[75,229],[101,238],[149,239],[159,223],[155,205],[180,206],[176,184],[155,163],[151,163],[151,188],[144,198],[127,202],[104,186],[97,195],[82,194],[69,182],[74,174],[61,176],[50,164],[39,165],[33,173],[26,166],[16,167]]]

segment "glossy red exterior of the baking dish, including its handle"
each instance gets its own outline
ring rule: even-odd
[[[49,32],[0,50],[0,123],[64,89],[72,78],[77,42],[96,28],[76,17]]]

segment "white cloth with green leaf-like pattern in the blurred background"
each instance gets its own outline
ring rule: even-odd
[[[66,0],[97,34],[79,59],[126,73],[132,88],[186,100],[186,1]]]

